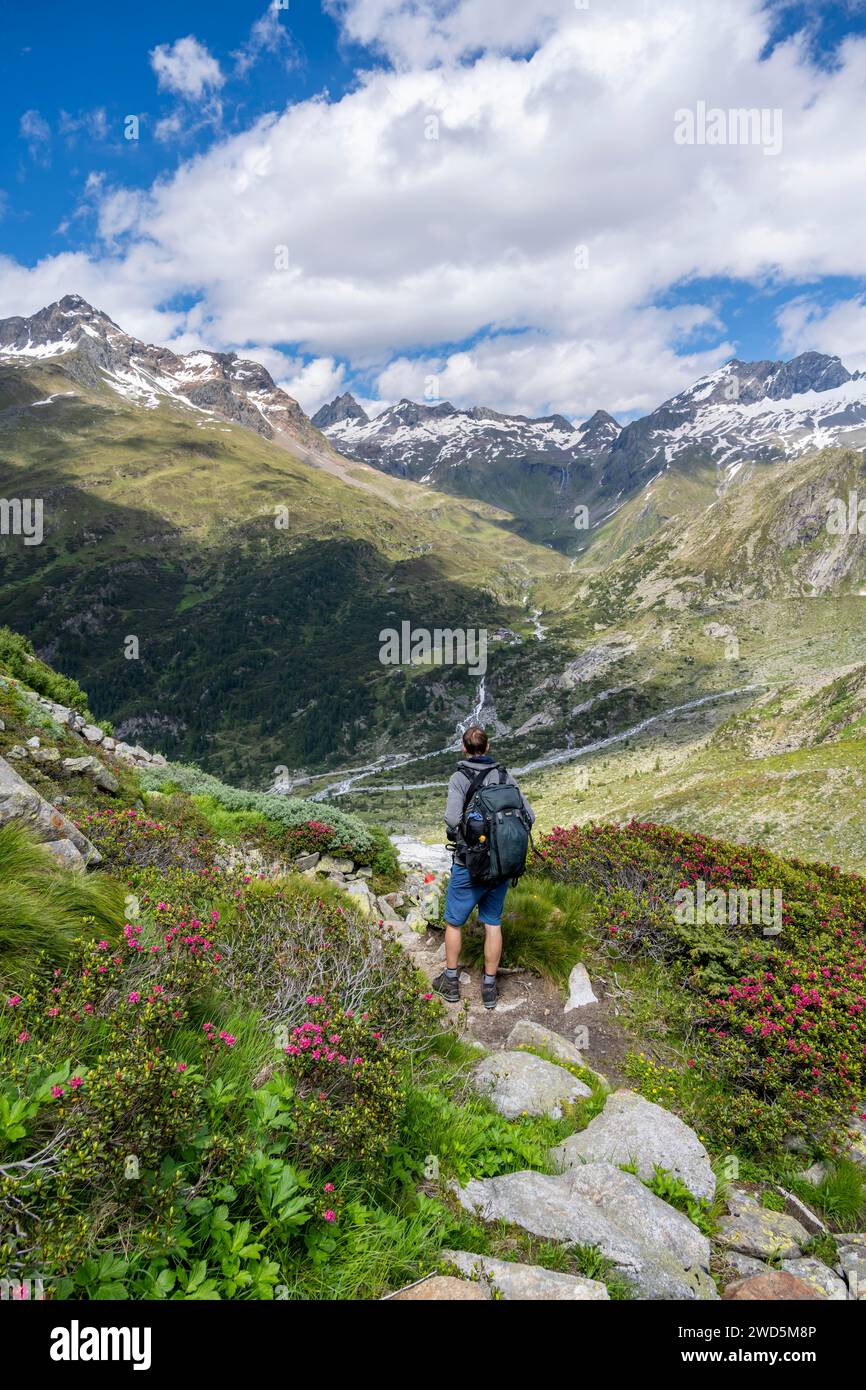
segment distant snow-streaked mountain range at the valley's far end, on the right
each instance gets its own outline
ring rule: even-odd
[[[745,463],[866,443],[866,375],[823,353],[734,359],[627,425],[605,410],[575,425],[563,416],[531,420],[411,400],[371,420],[349,393],[322,406],[313,424],[350,459],[496,500],[532,539],[577,553],[585,548],[574,525],[578,506],[595,530],[671,466],[709,463],[727,484]]]

